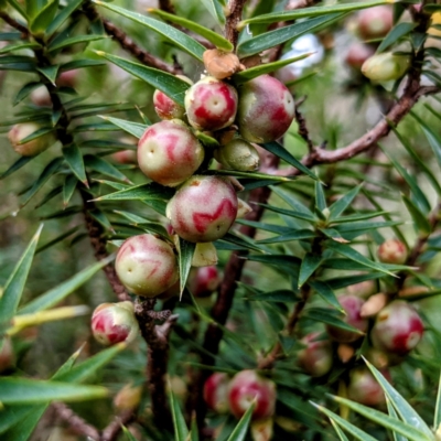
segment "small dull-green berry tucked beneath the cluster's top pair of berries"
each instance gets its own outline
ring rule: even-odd
[[[260,164],[259,153],[254,146],[239,138],[220,146],[213,154],[220,164],[240,172],[257,170]]]

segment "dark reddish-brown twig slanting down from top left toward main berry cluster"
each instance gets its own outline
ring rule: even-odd
[[[168,72],[169,74],[182,74],[182,69],[163,62],[161,58],[141,49],[126,34],[126,32],[118,29],[110,20],[100,18],[97,10],[90,2],[86,3],[83,10],[90,22],[101,20],[106,33],[112,36],[125,51],[132,54],[142,64]]]

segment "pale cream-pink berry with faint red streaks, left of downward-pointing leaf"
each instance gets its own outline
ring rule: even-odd
[[[161,294],[179,278],[172,247],[150,234],[127,239],[119,248],[115,269],[130,292],[149,298]]]

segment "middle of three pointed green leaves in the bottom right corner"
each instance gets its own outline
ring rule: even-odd
[[[363,415],[365,418],[374,421],[376,424],[406,435],[411,441],[433,440],[433,435],[428,438],[426,433],[410,426],[411,421],[407,421],[408,423],[402,422],[399,419],[391,418],[388,415],[383,413],[376,409],[359,405],[358,402],[351,401],[346,398],[333,397],[333,399],[336,402],[348,407],[355,412]]]

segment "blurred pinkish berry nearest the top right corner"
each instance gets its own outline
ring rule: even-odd
[[[364,40],[380,39],[394,26],[394,11],[388,6],[364,9],[358,12],[358,33]]]

